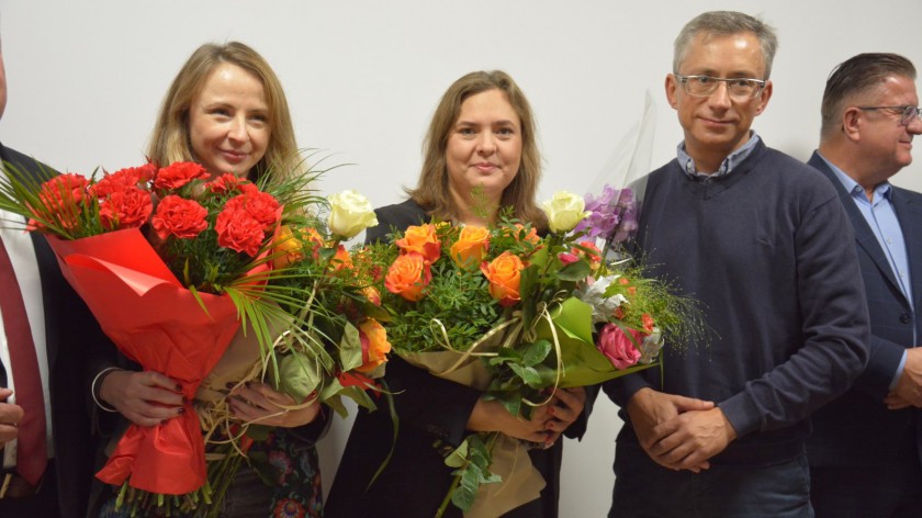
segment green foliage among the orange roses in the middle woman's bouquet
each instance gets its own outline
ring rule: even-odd
[[[580,241],[582,233],[538,239],[510,214],[510,210],[502,211],[498,223],[488,229],[490,245],[483,257],[486,266],[508,251],[522,262],[520,300],[506,297],[505,306],[491,294],[485,274],[488,268],[459,266],[452,259],[452,246],[462,232],[459,226],[432,224],[441,254],[437,259],[429,257],[431,280],[418,301],[386,291],[385,275],[402,254],[400,246],[373,245],[364,250],[367,264],[360,268],[360,277],[381,291],[389,313],[389,339],[398,353],[452,350],[461,360],[483,361],[491,381],[482,398],[499,402],[510,414],[528,419],[553,390],[599,383],[649,367],[615,368],[594,342],[596,324],[599,328],[608,323],[622,330],[640,330],[651,338],[651,345],[657,344],[655,329],[675,336],[702,328],[695,318],[694,303],[673,295],[667,284],[645,279],[642,270],[630,263],[603,264],[599,250]],[[396,232],[392,238],[418,237],[417,230]],[[596,306],[581,300],[589,285],[603,278],[606,282],[597,284],[593,294],[598,299],[592,303]],[[610,283],[607,291],[598,294],[606,283]],[[506,296],[503,293],[497,296]],[[604,314],[594,320],[594,311],[596,316]],[[462,358],[474,345],[481,359]],[[412,358],[426,361],[419,354]],[[470,509],[480,485],[498,481],[490,473],[495,437],[472,435],[446,459],[446,464],[456,469],[449,493],[457,507]],[[448,499],[437,516],[447,505]]]

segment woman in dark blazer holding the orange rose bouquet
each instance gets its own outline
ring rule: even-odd
[[[369,229],[367,241],[432,217],[485,226],[499,206],[511,206],[516,217],[546,229],[547,216],[535,201],[539,178],[535,123],[525,95],[505,72],[471,72],[448,89],[436,109],[423,172],[416,189],[407,191],[409,200],[375,210],[379,224]],[[492,212],[476,210],[484,205],[472,193],[476,187]],[[482,399],[482,392],[431,375],[398,357],[391,357],[384,379],[400,419],[396,442],[386,410],[359,412],[329,494],[327,516],[434,516],[452,482],[445,455],[474,431],[502,431],[543,443],[546,449],[529,454],[547,486],[539,498],[503,516],[558,515],[562,453],[558,439],[564,430],[569,435],[585,430],[587,391],[558,391],[554,401],[524,420],[498,402]],[[386,468],[372,482],[392,444]],[[461,513],[449,505],[446,516]]]

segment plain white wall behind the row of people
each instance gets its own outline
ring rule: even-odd
[[[280,76],[303,147],[353,164],[329,174],[333,193],[397,202],[413,184],[420,143],[445,89],[475,69],[505,69],[540,125],[541,198],[585,192],[656,104],[652,164],[682,138],[663,82],[672,42],[705,10],[761,14],[780,37],[775,94],[754,127],[768,145],[806,160],[832,67],[861,52],[897,52],[922,68],[919,0],[0,0],[9,104],[0,140],[59,170],[139,165],[164,93],[204,42],[239,40]],[[922,159],[895,183],[922,190]],[[605,516],[620,421],[599,398],[581,443],[567,441],[562,517]],[[348,424],[322,444],[333,480]],[[335,518],[335,517],[333,517]]]

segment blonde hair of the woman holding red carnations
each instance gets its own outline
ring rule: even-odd
[[[259,79],[269,108],[269,145],[250,171],[250,178],[255,180],[270,170],[280,176],[293,173],[301,166],[301,159],[282,85],[266,59],[239,42],[223,45],[207,43],[192,53],[164,98],[150,135],[147,158],[161,166],[194,160],[189,136],[189,109],[214,69],[224,63],[238,66]]]

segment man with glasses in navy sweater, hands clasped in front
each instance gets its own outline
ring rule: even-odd
[[[738,12],[704,13],[676,38],[665,89],[685,139],[645,179],[636,246],[700,301],[707,338],[675,339],[659,369],[605,385],[626,421],[610,517],[811,517],[809,416],[867,361],[835,190],[751,131],[776,46]]]

